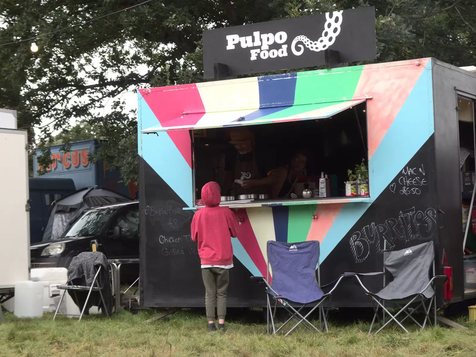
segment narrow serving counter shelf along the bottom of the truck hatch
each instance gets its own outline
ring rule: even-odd
[[[228,201],[220,203],[222,207],[228,208],[253,208],[253,207],[276,207],[276,206],[299,206],[299,205],[335,205],[342,203],[372,203],[370,197],[328,197],[328,198],[298,198],[285,200],[244,200]],[[196,211],[205,206],[186,207],[183,210]]]

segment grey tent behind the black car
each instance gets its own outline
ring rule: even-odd
[[[87,208],[108,203],[130,201],[129,197],[99,186],[81,188],[53,202],[50,219],[43,233],[43,241],[60,238],[69,224]]]

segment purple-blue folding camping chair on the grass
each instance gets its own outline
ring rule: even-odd
[[[317,327],[312,325],[309,320],[307,320],[307,317],[311,315],[311,313],[314,312],[316,308],[319,308],[319,328],[322,328],[322,317],[326,331],[328,331],[326,315],[330,307],[330,301],[332,297],[331,294],[332,291],[334,291],[334,289],[337,287],[340,280],[342,280],[344,277],[342,276],[339,278],[331,291],[329,291],[327,294],[323,293],[319,287],[319,242],[317,240],[301,243],[281,243],[268,241],[267,255],[267,278],[251,277],[251,280],[266,284],[268,300],[268,334],[270,333],[270,318],[274,335],[276,335],[279,330],[286,326],[293,318],[297,320],[297,324],[294,325],[285,336],[291,333],[301,323],[309,330],[314,329],[317,332],[320,332]],[[269,284],[269,268],[271,268],[273,273],[271,285]],[[274,312],[271,308],[271,302],[269,299],[270,296],[276,300]],[[323,302],[326,299],[328,300],[328,307],[325,314]],[[283,325],[276,329],[275,316],[276,309],[278,308],[278,302],[288,311],[291,317],[289,317],[288,320],[283,323]],[[298,310],[296,310],[293,305],[299,307]],[[314,305],[314,307],[312,307],[306,316],[302,316],[301,310],[308,305]]]

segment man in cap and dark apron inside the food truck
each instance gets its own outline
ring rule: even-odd
[[[268,171],[275,169],[270,155],[255,150],[254,133],[247,126],[233,127],[230,129],[230,144],[233,144],[238,151],[238,155],[229,158],[225,164],[225,170],[229,173],[229,188],[233,186],[234,195],[238,198],[239,195],[270,194],[270,185],[249,187],[246,184],[247,180],[267,177]],[[235,180],[245,181],[245,183],[234,182]]]

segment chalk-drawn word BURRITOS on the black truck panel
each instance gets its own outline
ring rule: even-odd
[[[412,207],[401,210],[397,218],[388,218],[381,224],[372,222],[352,233],[349,239],[350,250],[356,263],[361,263],[367,259],[371,250],[380,254],[384,246],[393,249],[397,241],[426,241],[434,237],[436,230],[434,208],[417,211]]]

